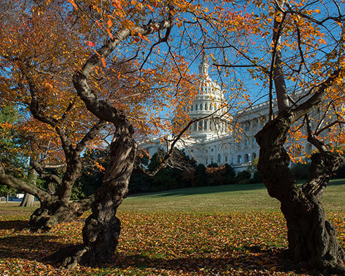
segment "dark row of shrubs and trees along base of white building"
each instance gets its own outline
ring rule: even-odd
[[[147,155],[139,155],[136,160],[136,169],[130,177],[129,194],[152,193],[161,190],[173,190],[179,188],[218,186],[230,184],[253,184],[261,183],[262,178],[257,171],[257,160],[242,172],[235,172],[230,164],[197,164],[184,150],[175,150],[173,162],[170,166],[157,172],[154,177],[148,177],[141,171],[146,168],[148,171],[155,170],[159,166],[163,150],[158,150],[152,158]],[[87,150],[83,156],[85,164],[93,164],[92,159],[101,160],[99,166],[86,166],[86,170],[73,187],[71,199],[82,199],[88,197],[101,185],[104,169],[108,165],[106,151]],[[296,179],[308,179],[309,164],[293,164],[291,170]],[[340,167],[335,177],[345,177],[345,165]],[[46,184],[48,188],[48,184]]]

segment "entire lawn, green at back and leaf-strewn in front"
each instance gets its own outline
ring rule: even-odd
[[[344,247],[345,179],[331,181],[323,200]],[[30,233],[26,226],[32,210],[0,204],[0,276],[297,275],[282,271],[285,221],[263,184],[130,196],[117,213],[122,222],[119,258],[95,268],[66,270],[41,261],[61,246],[81,243],[90,212],[49,233]]]

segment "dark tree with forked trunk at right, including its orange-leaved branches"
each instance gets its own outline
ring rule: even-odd
[[[269,195],[281,203],[291,265],[342,274],[344,250],[337,242],[335,227],[326,219],[321,198],[328,180],[344,161],[333,149],[335,143],[343,142],[333,131],[342,133],[344,124],[344,6],[337,1],[276,1],[258,8],[262,8],[257,18],[260,34],[273,34],[267,47],[269,63],[250,59],[256,68],[253,75],[263,72],[267,78],[271,103],[269,121],[255,136],[260,146],[258,169]],[[275,118],[273,92],[277,96]],[[316,108],[324,112],[320,119],[315,116]],[[316,148],[302,188],[297,187],[284,148],[296,122],[304,124],[308,141]],[[324,134],[324,130],[331,131]]]

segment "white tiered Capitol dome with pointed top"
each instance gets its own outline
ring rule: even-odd
[[[208,68],[203,56],[199,64],[197,95],[187,110],[192,119],[201,119],[190,128],[191,137],[209,137],[229,132],[226,101],[220,86],[210,79]]]

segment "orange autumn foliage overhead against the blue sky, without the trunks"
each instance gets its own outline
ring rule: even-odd
[[[90,115],[76,96],[72,75],[83,61],[97,52],[104,41],[115,39],[113,35],[117,30],[127,28],[132,35],[122,41],[109,59],[100,57],[101,68],[95,69],[92,89],[97,97],[126,111],[139,139],[176,133],[187,124],[189,118],[184,112],[184,106],[195,97],[196,76],[193,75],[195,70],[192,64],[200,57],[203,48],[210,57],[210,63],[221,61],[227,64],[231,61],[231,65],[237,66],[243,63],[243,59],[237,63],[232,58],[244,54],[241,55],[246,57],[246,64],[262,65],[251,71],[253,77],[263,79],[264,83],[267,81],[263,71],[269,69],[270,62],[259,57],[258,53],[270,55],[273,20],[281,16],[270,3],[248,1],[244,6],[232,6],[230,1],[69,2],[68,6],[63,5],[66,4],[63,1],[46,1],[46,6],[30,6],[24,12],[25,17],[19,17],[19,10],[18,14],[14,12],[11,19],[14,24],[12,21],[1,22],[4,32],[1,34],[0,51],[6,57],[1,60],[2,68],[7,66],[12,74],[11,78],[5,77],[3,81],[7,83],[3,90],[4,102],[16,101],[19,105],[28,105],[30,95],[25,91],[27,79],[20,72],[20,68],[25,67],[27,75],[38,88],[43,112],[61,124],[63,121],[63,127],[75,135],[75,141],[94,124],[96,118]],[[61,5],[53,5],[56,3]],[[257,8],[257,14],[250,11],[253,5]],[[291,2],[291,5],[296,10],[303,10],[308,16],[322,14],[319,9],[304,9],[304,1]],[[158,21],[166,17],[168,12],[175,26],[167,41],[164,41],[165,31],[148,36],[137,31],[137,26]],[[284,64],[286,79],[298,89],[317,86],[319,80],[309,81],[296,73],[299,70],[297,64],[306,63],[313,75],[322,75],[322,72],[327,72],[325,68],[337,66],[336,51],[332,51],[325,59],[317,60],[315,49],[328,43],[324,32],[297,13],[291,12],[288,17],[289,21],[286,21],[282,30],[282,47],[290,55]],[[302,57],[293,59],[300,50],[298,36],[302,38],[299,41],[303,41],[305,60]],[[268,44],[259,46],[258,38],[268,39]],[[230,47],[229,42],[233,47]],[[228,55],[224,50],[226,48],[233,49],[233,56]],[[253,49],[258,50],[255,53],[258,56],[250,59],[247,54],[253,52]],[[233,71],[228,69],[221,74],[230,75]],[[341,78],[337,81],[341,82]],[[234,86],[230,81],[226,84],[230,92],[235,90],[236,97],[248,91],[244,85]],[[233,101],[242,106],[239,99]],[[332,101],[341,104],[341,100]],[[338,115],[341,117],[344,114],[339,112]],[[342,136],[333,135],[335,137]]]

